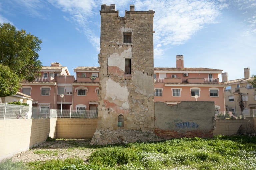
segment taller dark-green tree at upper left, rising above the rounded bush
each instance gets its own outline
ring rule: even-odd
[[[42,67],[38,60],[41,43],[26,30],[0,24],[0,64],[8,66],[21,80],[33,81]]]

